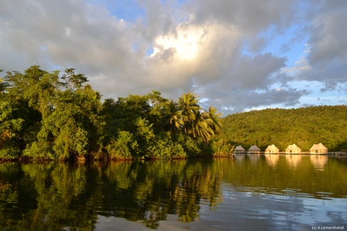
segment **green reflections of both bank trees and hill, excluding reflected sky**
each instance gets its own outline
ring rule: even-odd
[[[93,230],[97,217],[103,216],[157,229],[169,215],[193,222],[199,220],[202,207],[218,209],[226,185],[252,195],[346,198],[347,162],[319,158],[236,155],[181,161],[1,163],[0,227]]]

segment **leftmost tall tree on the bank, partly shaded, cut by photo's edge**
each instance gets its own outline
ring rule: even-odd
[[[7,72],[4,77],[9,87],[6,88],[6,94],[1,94],[0,98],[3,109],[1,111],[4,112],[1,119],[4,142],[0,148],[5,156],[6,150],[12,150],[12,154],[20,157],[21,151],[37,139],[44,111],[50,105],[46,97],[49,84],[47,81],[41,84],[41,80],[50,77],[52,80],[55,79],[54,75],[48,75],[48,72],[34,65],[24,73]]]

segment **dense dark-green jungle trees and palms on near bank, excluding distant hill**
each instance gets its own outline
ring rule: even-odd
[[[148,95],[101,101],[73,68],[39,66],[0,79],[0,159],[185,158],[213,154],[221,113],[188,92],[177,102]],[[61,82],[60,82],[61,81]],[[223,143],[228,150],[230,144]],[[202,151],[203,149],[203,151]],[[226,153],[226,151],[224,151]]]

